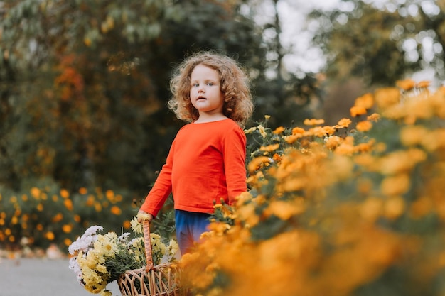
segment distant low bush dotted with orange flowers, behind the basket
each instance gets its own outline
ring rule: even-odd
[[[82,229],[106,221],[105,229],[130,229],[137,207],[125,192],[80,188],[69,192],[53,182],[36,182],[24,192],[0,188],[0,249],[66,250]],[[100,215],[98,215],[100,214]]]

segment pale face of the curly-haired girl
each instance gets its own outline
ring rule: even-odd
[[[224,94],[216,70],[197,65],[191,74],[190,99],[200,116],[223,114]]]

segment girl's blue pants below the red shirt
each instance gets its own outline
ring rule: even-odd
[[[210,214],[175,210],[176,240],[181,254],[191,251],[200,235],[208,231]]]

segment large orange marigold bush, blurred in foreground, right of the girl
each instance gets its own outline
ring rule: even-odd
[[[357,98],[334,126],[246,130],[250,192],[217,207],[181,283],[212,296],[445,295],[445,88],[398,86]]]

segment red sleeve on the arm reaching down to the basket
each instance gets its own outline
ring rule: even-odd
[[[159,176],[154,182],[149,194],[147,194],[141,210],[152,214],[154,217],[159,213],[168,195],[171,193],[171,170],[173,168],[173,150],[175,141],[171,144],[166,163],[162,166]]]

